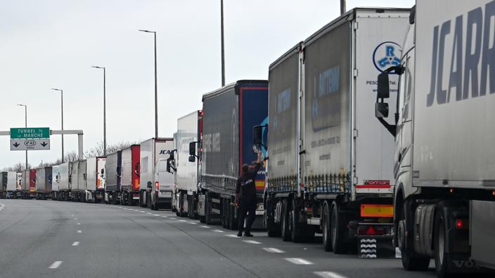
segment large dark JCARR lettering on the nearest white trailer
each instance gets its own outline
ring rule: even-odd
[[[495,29],[491,24],[494,17],[495,1],[491,1],[433,27],[431,82],[426,107],[434,104],[435,96],[438,105],[451,102],[454,88],[456,101],[495,93],[495,46],[492,42]],[[445,49],[448,40],[452,42],[451,51]],[[445,61],[445,58],[449,59],[445,57],[446,53],[452,53],[450,60]],[[447,65],[445,70],[450,66],[447,87],[443,86],[444,65]]]

